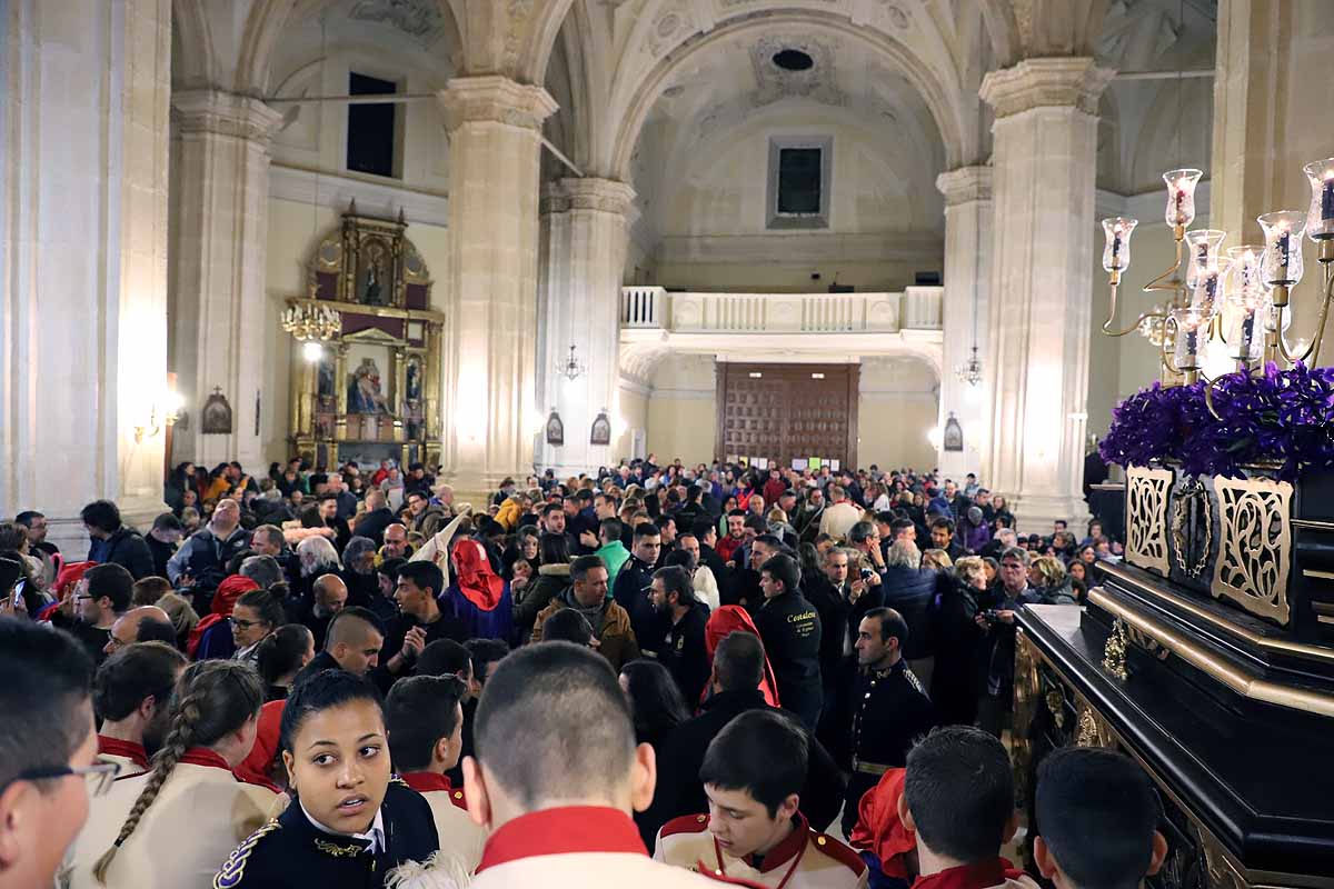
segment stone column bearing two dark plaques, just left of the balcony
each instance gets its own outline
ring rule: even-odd
[[[552,407],[566,425],[566,444],[539,440],[538,464],[556,477],[595,472],[610,445],[592,445],[592,424],[607,412],[618,424],[620,284],[634,189],[610,179],[562,179],[543,195],[543,267],[539,291],[538,408]],[[556,364],[570,345],[587,372],[567,380]]]

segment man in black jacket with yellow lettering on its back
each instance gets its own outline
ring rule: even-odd
[[[755,628],[778,680],[778,697],[808,730],[820,716],[820,618],[800,590],[802,574],[791,556],[779,553],[760,568],[764,605]]]

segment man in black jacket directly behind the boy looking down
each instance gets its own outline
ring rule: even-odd
[[[704,701],[703,712],[686,720],[659,745],[658,794],[654,809],[663,822],[683,814],[708,810],[708,797],[699,780],[699,766],[710,741],[746,710],[768,709],[759,684],[764,677],[764,645],[758,636],[746,632],[730,633],[714,652],[712,696]],[[798,722],[795,714],[779,710]],[[806,786],[802,788],[802,814],[811,826],[823,830],[838,816],[843,805],[843,773],[828,750],[810,737],[810,761]],[[662,826],[662,825],[658,825]],[[656,829],[655,829],[656,833]]]

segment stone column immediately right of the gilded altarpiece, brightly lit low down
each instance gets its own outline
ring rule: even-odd
[[[487,75],[439,93],[450,131],[446,476],[470,496],[532,470],[540,87]],[[568,429],[568,427],[567,427]],[[570,432],[567,432],[570,435]]]

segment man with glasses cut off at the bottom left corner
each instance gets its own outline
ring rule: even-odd
[[[93,761],[92,661],[71,636],[0,617],[0,889],[49,886],[120,766]]]

